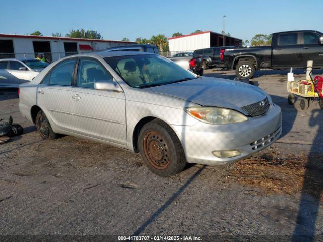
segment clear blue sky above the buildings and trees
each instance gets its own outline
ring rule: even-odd
[[[201,5],[202,4],[202,5]],[[323,32],[323,0],[270,1],[131,1],[131,0],[33,0],[0,3],[0,33],[43,35],[69,29],[93,29],[104,39],[150,38],[196,29],[222,31],[243,40],[258,33],[311,29]]]

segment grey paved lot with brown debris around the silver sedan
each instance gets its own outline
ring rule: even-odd
[[[215,69],[205,75],[235,77]],[[283,111],[273,146],[229,166],[191,165],[171,178],[119,148],[70,136],[41,140],[20,115],[17,90],[0,90],[0,118],[12,115],[25,129],[0,146],[0,234],[323,239],[323,111],[289,105],[286,79],[285,71],[257,71],[253,79]]]

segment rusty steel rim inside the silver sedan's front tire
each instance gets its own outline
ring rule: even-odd
[[[165,169],[169,164],[169,148],[165,139],[155,131],[149,132],[143,140],[147,160],[156,169]]]

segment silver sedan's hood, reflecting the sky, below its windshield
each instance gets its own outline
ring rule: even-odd
[[[243,106],[266,98],[266,93],[253,85],[212,77],[150,87],[146,90],[177,97],[201,106],[224,107],[239,111]]]

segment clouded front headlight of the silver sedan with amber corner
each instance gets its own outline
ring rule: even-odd
[[[213,125],[241,123],[248,118],[240,112],[220,107],[187,107],[185,111],[198,120]]]

